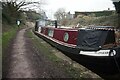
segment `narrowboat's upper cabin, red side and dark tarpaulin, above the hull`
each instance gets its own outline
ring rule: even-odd
[[[57,25],[42,27],[39,23],[36,22],[38,32],[58,41],[76,45],[81,50],[99,50],[116,46],[115,30],[111,26],[64,29],[57,28]]]

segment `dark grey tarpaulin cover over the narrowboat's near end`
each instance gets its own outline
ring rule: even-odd
[[[82,50],[98,50],[104,44],[115,42],[113,30],[80,29],[77,46]]]

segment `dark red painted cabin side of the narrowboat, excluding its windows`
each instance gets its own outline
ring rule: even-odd
[[[41,33],[48,36],[48,30],[54,31],[54,34],[53,34],[54,39],[57,39],[59,41],[62,41],[68,44],[76,45],[77,43],[78,30],[42,27]],[[69,38],[67,41],[64,41],[65,33],[68,33],[69,35]]]

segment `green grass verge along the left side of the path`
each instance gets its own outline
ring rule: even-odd
[[[18,31],[17,26],[10,26],[7,25],[4,26],[6,28],[6,31],[2,32],[2,36],[1,36],[1,45],[2,45],[2,53],[1,53],[1,59],[0,59],[0,64],[2,64],[2,66],[0,66],[1,70],[1,74],[2,74],[2,70],[5,70],[5,63],[7,62],[7,60],[9,60],[9,45],[12,43],[12,40],[15,38],[16,33]]]

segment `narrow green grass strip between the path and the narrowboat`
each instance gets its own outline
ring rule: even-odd
[[[43,39],[35,36],[32,31],[27,31],[27,35],[32,38],[34,46],[41,52],[43,52],[51,61],[58,62],[61,61],[60,58],[57,58],[55,55],[51,54],[54,49],[51,45],[47,44]],[[49,55],[48,55],[49,54]]]

